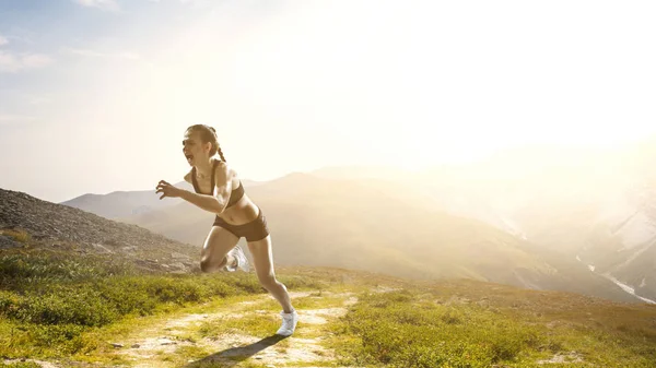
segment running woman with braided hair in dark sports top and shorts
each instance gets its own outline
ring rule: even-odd
[[[200,269],[203,272],[234,272],[237,269],[248,272],[248,260],[244,250],[237,246],[242,237],[246,238],[260,284],[282,307],[282,325],[277,334],[290,336],[294,333],[298,314],[292,307],[286,287],[276,280],[271,236],[266,217],[244,193],[237,173],[225,162],[214,128],[204,124],[187,128],[183,153],[191,166],[191,170],[185,175],[185,181],[194,186],[195,192],[161,180],[155,193],[162,193],[160,200],[165,197],[181,198],[216,214],[202,246]]]

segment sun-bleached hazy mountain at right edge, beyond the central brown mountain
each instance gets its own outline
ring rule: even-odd
[[[534,253],[576,260],[626,293],[656,301],[652,143],[515,150],[469,167],[422,173],[417,181],[445,211],[527,239],[537,246]],[[560,270],[559,262],[552,264]]]

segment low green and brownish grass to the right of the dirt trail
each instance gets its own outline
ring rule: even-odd
[[[493,284],[445,285],[361,295],[360,302],[333,325],[337,335],[331,344],[342,363],[537,367],[538,360],[559,354],[582,360],[567,367],[656,366],[656,308],[605,306],[595,312],[576,297],[559,300],[563,294],[558,293],[500,287],[503,292],[496,290],[497,296],[516,296],[494,299],[483,288],[496,287]],[[449,289],[454,285],[459,285],[458,292]]]

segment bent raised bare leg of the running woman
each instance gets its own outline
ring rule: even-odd
[[[225,264],[232,264],[235,260],[227,252],[238,241],[239,238],[231,232],[221,226],[212,226],[200,253],[200,270],[214,272],[221,270]]]

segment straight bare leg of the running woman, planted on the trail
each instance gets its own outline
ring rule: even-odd
[[[273,271],[273,254],[271,247],[271,236],[268,235],[266,238],[257,241],[248,241],[248,249],[253,256],[253,264],[257,278],[259,280],[262,287],[265,287],[271,295],[280,302],[283,312],[291,313],[294,311],[290,294],[286,287],[276,280],[276,272]]]

